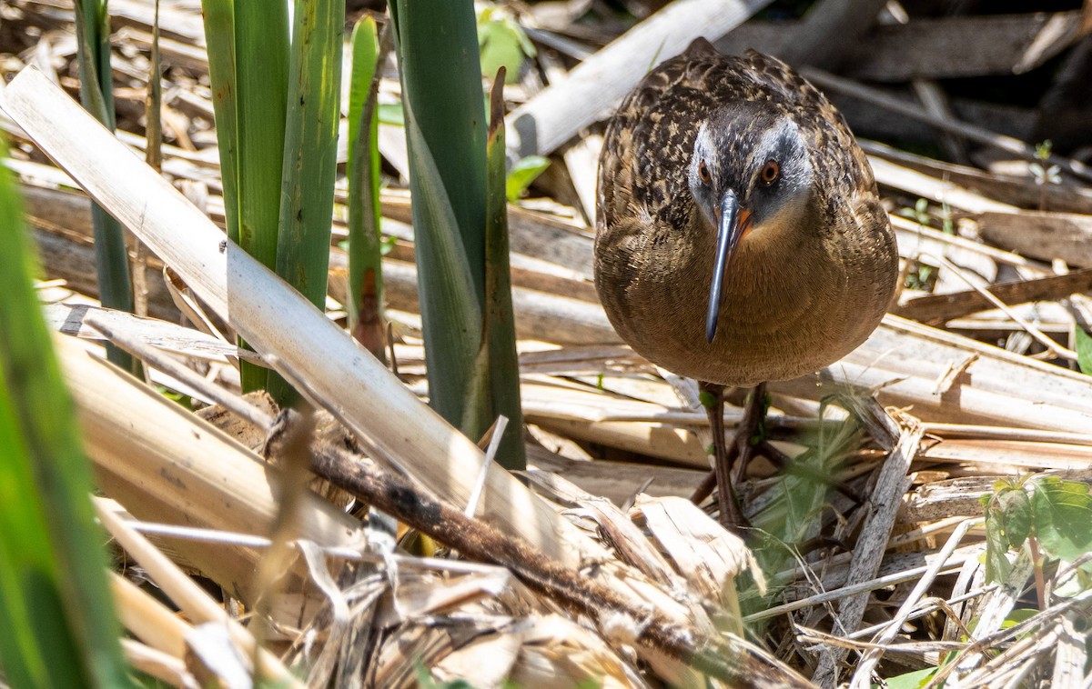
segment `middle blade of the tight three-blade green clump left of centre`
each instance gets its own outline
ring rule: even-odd
[[[275,270],[288,92],[286,3],[235,3],[235,77],[239,245]],[[244,391],[266,387],[266,370],[253,364],[244,362],[240,377]]]

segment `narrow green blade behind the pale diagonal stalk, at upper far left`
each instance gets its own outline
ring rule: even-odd
[[[76,0],[76,51],[80,63],[80,101],[96,120],[111,132],[115,128],[112,70],[110,68],[110,25],[105,0]],[[92,204],[95,234],[95,266],[98,274],[98,300],[104,306],[132,313],[133,292],[129,276],[129,250],[124,231],[98,204]],[[107,346],[109,360],[133,371],[133,360],[114,346]]]

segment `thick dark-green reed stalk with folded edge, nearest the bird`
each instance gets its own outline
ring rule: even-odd
[[[390,10],[429,396],[444,419],[477,438],[485,427],[464,425],[485,294],[486,122],[474,7],[470,0],[396,0]]]

